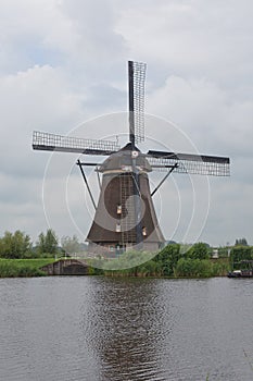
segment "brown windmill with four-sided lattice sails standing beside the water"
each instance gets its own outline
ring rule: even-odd
[[[137,145],[144,140],[144,79],[147,65],[128,61],[129,143],[84,139],[35,131],[33,148],[75,152],[84,156],[106,156],[102,162],[77,160],[80,173],[94,207],[94,218],[87,235],[89,251],[107,257],[129,248],[156,250],[164,244],[152,197],[168,175],[190,173],[228,176],[229,158],[149,150],[143,153]],[[102,176],[98,205],[89,186],[85,167],[93,165]],[[165,171],[153,192],[149,173]]]

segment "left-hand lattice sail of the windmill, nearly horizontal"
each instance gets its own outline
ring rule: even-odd
[[[46,151],[75,152],[84,155],[111,155],[121,147],[115,142],[84,139],[34,131],[33,148]]]

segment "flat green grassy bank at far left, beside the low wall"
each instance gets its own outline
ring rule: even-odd
[[[40,268],[53,261],[53,258],[0,259],[0,278],[42,276]]]

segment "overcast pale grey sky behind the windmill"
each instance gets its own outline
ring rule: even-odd
[[[126,144],[134,60],[148,64],[140,149],[231,160],[230,177],[167,179],[154,196],[165,237],[253,244],[252,16],[251,0],[0,0],[0,236],[86,238],[78,157],[34,151],[33,131]]]

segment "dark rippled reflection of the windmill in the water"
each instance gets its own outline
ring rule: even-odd
[[[165,380],[159,376],[164,312],[155,281],[100,280],[89,315],[103,380]]]

